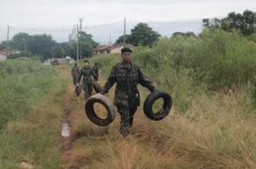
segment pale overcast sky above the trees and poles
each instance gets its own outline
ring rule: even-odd
[[[45,32],[67,41],[71,29],[112,22],[179,22],[227,16],[228,12],[256,11],[256,0],[0,0],[0,41],[19,31]],[[56,35],[60,34],[60,35]]]

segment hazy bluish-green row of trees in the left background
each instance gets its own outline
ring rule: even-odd
[[[6,49],[7,43],[3,41],[0,49]],[[16,34],[9,42],[12,50],[17,50],[20,53],[10,56],[16,58],[20,56],[34,57],[37,55],[40,59],[45,60],[49,58],[62,58],[64,56],[71,56],[76,58],[76,41],[68,41],[58,43],[53,40],[49,34],[35,34],[27,33]],[[80,46],[82,47],[82,58],[93,55],[93,48],[98,46],[98,43],[93,41],[91,34],[80,32]]]

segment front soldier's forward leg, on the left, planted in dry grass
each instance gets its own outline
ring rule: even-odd
[[[129,123],[129,106],[118,106],[118,113],[121,115],[120,133],[124,137],[129,135],[130,123]]]

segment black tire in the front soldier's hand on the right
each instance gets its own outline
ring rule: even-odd
[[[153,107],[153,104],[159,98],[163,98],[163,107],[161,110],[154,113],[152,110],[152,107]],[[144,114],[151,120],[160,121],[164,117],[168,116],[168,114],[170,113],[171,105],[172,105],[172,99],[170,97],[170,94],[168,94],[165,91],[156,90],[151,92],[150,95],[146,97],[144,102]]]

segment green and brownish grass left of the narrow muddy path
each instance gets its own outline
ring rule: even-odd
[[[0,168],[60,167],[61,95],[54,67],[20,58],[0,62]]]

